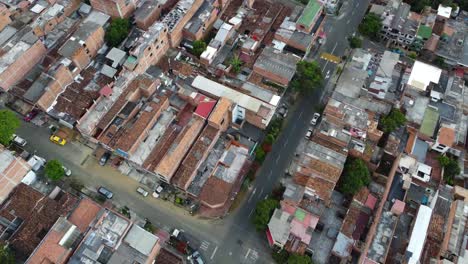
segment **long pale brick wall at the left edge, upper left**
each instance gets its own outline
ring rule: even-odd
[[[15,62],[0,74],[0,87],[8,91],[12,85],[22,80],[42,59],[47,49],[41,41],[34,43]]]

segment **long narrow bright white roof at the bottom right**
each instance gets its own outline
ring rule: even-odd
[[[411,232],[410,242],[406,251],[411,252],[412,255],[408,261],[408,264],[417,264],[421,257],[424,243],[426,242],[427,228],[431,221],[432,209],[421,205],[419,207],[418,216]]]

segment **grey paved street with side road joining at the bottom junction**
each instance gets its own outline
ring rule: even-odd
[[[351,35],[364,15],[369,0],[346,1],[340,16],[328,17],[325,24],[327,40],[321,52],[342,56],[347,46],[346,37]],[[335,65],[319,59],[324,75],[333,73]],[[327,87],[328,80],[324,87]],[[271,193],[278,179],[290,163],[299,141],[304,137],[308,123],[318,105],[322,90],[297,102],[278,141],[273,146],[244,203],[231,215],[220,220],[200,220],[168,202],[152,197],[143,198],[135,192],[138,183],[109,166],[97,165],[90,156],[91,150],[72,142],[66,146],[55,145],[48,140],[47,128],[23,124],[18,135],[29,141],[27,149],[37,151],[46,159],[56,158],[73,171],[72,177],[86,186],[106,186],[115,194],[113,200],[127,205],[135,213],[147,217],[164,229],[177,227],[198,237],[201,252],[207,263],[271,263],[270,249],[264,234],[259,234],[250,223],[255,204]]]

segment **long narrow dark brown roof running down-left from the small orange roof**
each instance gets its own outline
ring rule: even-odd
[[[184,190],[187,189],[187,183],[192,180],[191,176],[195,174],[200,163],[203,162],[208,155],[218,136],[219,130],[210,125],[207,125],[203,129],[197,141],[190,149],[189,154],[187,154],[187,157],[185,157],[174,175],[172,179],[174,185]]]

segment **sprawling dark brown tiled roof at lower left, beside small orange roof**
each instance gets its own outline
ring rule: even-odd
[[[23,183],[18,185],[8,202],[0,209],[0,215],[10,221],[14,216],[23,220],[9,239],[17,256],[29,256],[59,216],[68,215],[77,201],[69,193],[58,194],[53,200]]]

